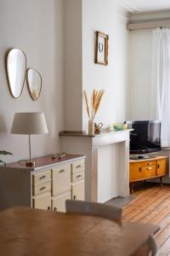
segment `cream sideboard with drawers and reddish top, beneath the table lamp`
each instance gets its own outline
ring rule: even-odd
[[[52,155],[0,167],[0,210],[27,206],[65,212],[65,200],[84,200],[85,156],[67,154],[64,159]]]

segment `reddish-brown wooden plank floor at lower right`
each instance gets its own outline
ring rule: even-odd
[[[160,255],[170,256],[170,185],[145,185],[134,194],[136,198],[123,207],[123,221],[159,225],[156,241]]]

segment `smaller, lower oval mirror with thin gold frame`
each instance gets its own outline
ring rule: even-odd
[[[36,69],[28,68],[26,73],[28,90],[33,101],[37,101],[42,89],[42,77]]]

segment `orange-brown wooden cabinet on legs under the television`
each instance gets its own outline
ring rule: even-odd
[[[167,156],[157,155],[142,160],[129,160],[129,183],[133,193],[133,183],[159,177],[162,186],[162,177],[167,172]]]

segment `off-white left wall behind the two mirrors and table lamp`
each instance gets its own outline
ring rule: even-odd
[[[9,94],[4,57],[10,48],[26,53],[27,67],[42,74],[42,92],[33,102],[25,88],[19,99]],[[0,149],[14,161],[28,157],[28,138],[11,135],[15,112],[45,113],[48,135],[32,136],[32,155],[59,151],[59,130],[63,129],[63,1],[1,0],[0,2]],[[1,157],[0,157],[1,159]]]

